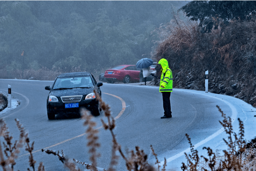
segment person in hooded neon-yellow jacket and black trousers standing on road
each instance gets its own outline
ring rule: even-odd
[[[163,95],[163,110],[164,115],[161,119],[171,118],[171,92],[172,92],[172,72],[168,66],[168,61],[166,59],[160,59],[158,64],[161,65],[161,80],[159,92]]]

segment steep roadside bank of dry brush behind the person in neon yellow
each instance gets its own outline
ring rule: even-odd
[[[186,6],[192,4],[195,6],[195,3],[200,5],[206,2],[193,1]],[[223,2],[225,8],[222,9],[226,11],[222,12],[226,13],[240,5],[237,1],[225,1],[225,3]],[[256,2],[252,1],[251,6],[253,4],[255,5]],[[187,8],[185,9],[187,14]],[[194,10],[195,15],[197,14],[195,10],[201,12],[197,8],[190,10]],[[190,14],[193,13],[187,15]],[[208,20],[209,15],[207,15],[202,18]],[[234,17],[228,22],[226,16],[219,18],[218,27],[213,27],[207,32],[206,25],[191,21],[194,20],[193,18],[188,22],[176,18],[159,28],[159,33],[167,36],[159,41],[154,51],[154,58],[168,60],[169,67],[173,71],[175,88],[204,91],[205,71],[209,70],[210,92],[232,95],[256,106],[255,10],[252,9],[249,14],[244,13],[244,20],[241,18],[243,17]]]

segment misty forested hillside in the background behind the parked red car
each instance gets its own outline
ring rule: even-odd
[[[54,79],[53,71],[97,73],[135,64],[150,57],[153,30],[186,3],[0,1],[0,78],[22,78],[22,68],[24,79]]]

